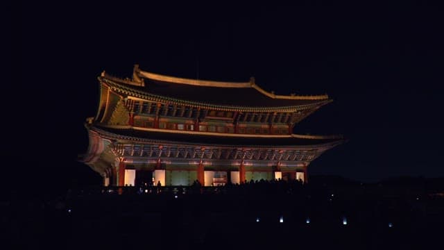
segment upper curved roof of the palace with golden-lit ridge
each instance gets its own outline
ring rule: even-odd
[[[278,95],[248,82],[204,81],[153,74],[135,65],[133,79],[123,80],[103,73],[101,80],[118,90],[139,97],[167,98],[231,108],[285,108],[323,106],[332,101],[327,94],[316,96]]]

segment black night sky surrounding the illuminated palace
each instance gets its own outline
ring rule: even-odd
[[[73,159],[87,150],[83,122],[96,112],[96,76],[106,70],[130,77],[135,63],[187,78],[255,76],[278,94],[329,94],[334,101],[294,133],[343,134],[349,141],[314,161],[310,174],[359,181],[444,176],[439,8],[406,1],[118,2],[12,6],[6,93],[12,140],[3,154],[11,169],[33,169],[27,180],[94,176]]]

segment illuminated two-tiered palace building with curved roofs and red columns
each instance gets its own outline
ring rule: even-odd
[[[85,127],[82,161],[104,185],[307,182],[312,160],[343,142],[339,135],[297,135],[293,126],[332,99],[278,95],[255,84],[153,74],[102,72],[95,117]]]

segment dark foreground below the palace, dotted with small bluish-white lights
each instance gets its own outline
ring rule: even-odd
[[[146,190],[11,194],[1,201],[3,242],[76,250],[442,247],[444,197],[436,190],[284,182]]]

